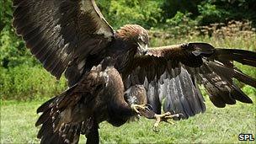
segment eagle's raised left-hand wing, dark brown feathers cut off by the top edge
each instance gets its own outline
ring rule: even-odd
[[[90,55],[99,55],[114,35],[94,0],[14,0],[13,27],[57,78],[67,69],[77,81]]]

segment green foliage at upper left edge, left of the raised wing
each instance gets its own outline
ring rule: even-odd
[[[11,0],[1,1],[0,6],[0,67],[15,67],[20,64],[35,65],[37,62],[12,27],[13,8]]]

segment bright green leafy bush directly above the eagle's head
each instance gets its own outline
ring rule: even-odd
[[[115,29],[119,29],[124,24],[141,24],[146,28],[157,25],[162,16],[160,6],[161,1],[99,1],[99,8]]]

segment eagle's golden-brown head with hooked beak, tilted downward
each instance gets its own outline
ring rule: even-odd
[[[147,52],[148,33],[147,30],[138,24],[125,24],[116,31],[116,36],[133,45],[136,48],[136,54],[144,55]]]

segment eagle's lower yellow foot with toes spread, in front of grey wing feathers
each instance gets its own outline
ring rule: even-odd
[[[154,117],[156,119],[156,122],[155,124],[153,125],[153,131],[158,131],[157,128],[160,124],[161,121],[165,121],[167,122],[168,124],[175,124],[174,122],[172,121],[168,121],[168,119],[173,119],[173,118],[179,118],[179,116],[181,116],[182,114],[174,114],[172,115],[170,112],[167,112],[167,113],[164,113],[163,115],[157,115],[155,114]]]

